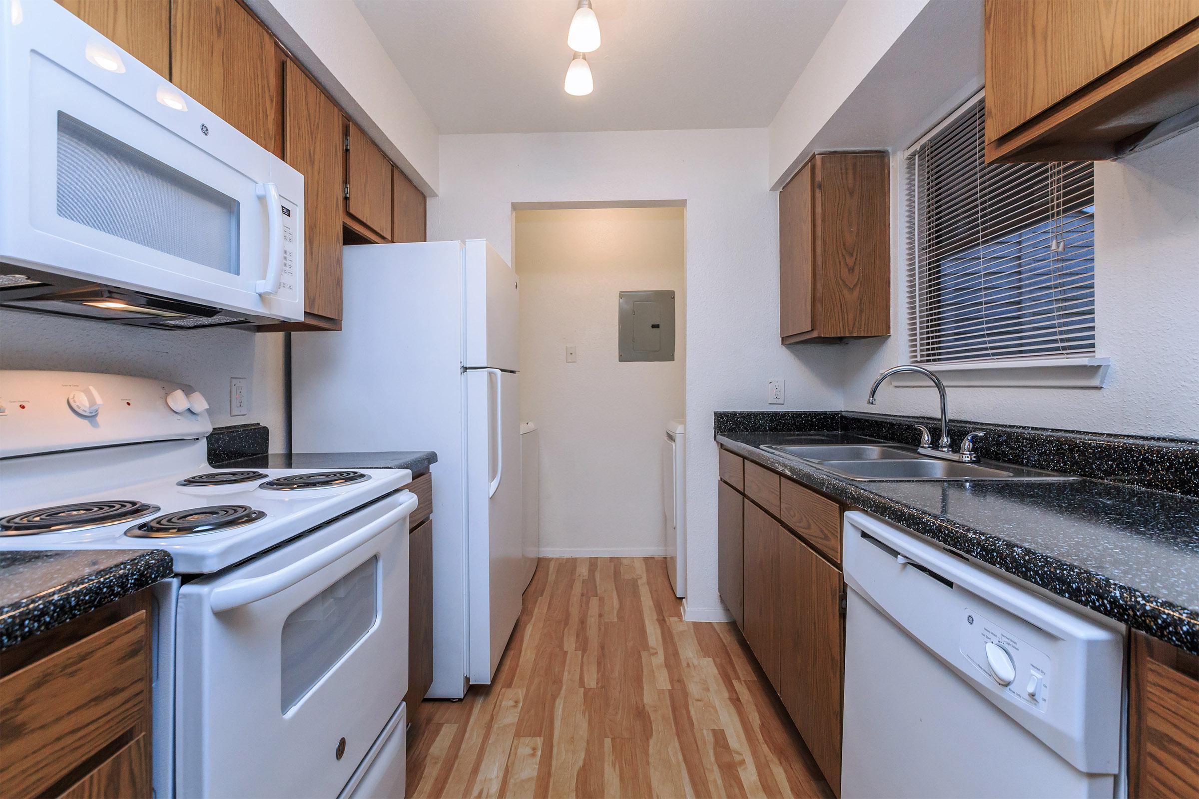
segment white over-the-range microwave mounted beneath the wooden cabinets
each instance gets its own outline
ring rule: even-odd
[[[303,176],[54,0],[0,0],[0,307],[303,319]]]

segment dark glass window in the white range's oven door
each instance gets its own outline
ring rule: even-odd
[[[372,557],[291,611],[283,623],[279,710],[287,714],[370,630],[379,616]]]

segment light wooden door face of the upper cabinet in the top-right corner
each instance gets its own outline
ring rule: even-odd
[[[987,0],[987,141],[1195,17],[1197,0]]]

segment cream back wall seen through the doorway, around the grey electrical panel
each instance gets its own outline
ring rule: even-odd
[[[685,412],[683,235],[680,207],[516,214],[520,418],[541,431],[544,555],[664,551],[663,429]],[[662,289],[676,298],[675,359],[621,363],[620,292]]]

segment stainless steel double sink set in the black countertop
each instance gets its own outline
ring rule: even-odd
[[[921,455],[903,444],[764,444],[763,449],[861,482],[1078,479],[1014,464],[940,460]]]

